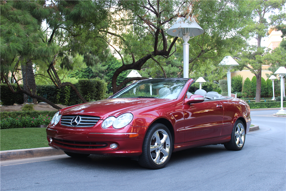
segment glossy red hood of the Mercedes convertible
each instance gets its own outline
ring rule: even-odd
[[[61,115],[92,115],[100,119],[119,116],[143,107],[169,102],[169,99],[105,99],[60,110]]]

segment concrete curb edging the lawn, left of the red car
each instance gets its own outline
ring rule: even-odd
[[[53,155],[65,154],[62,150],[53,149],[51,147],[41,147],[34,149],[17,149],[9,151],[0,151],[0,160],[16,160],[25,158],[45,157]]]

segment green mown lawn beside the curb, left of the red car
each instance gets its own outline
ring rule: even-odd
[[[0,150],[48,147],[46,128],[15,128],[0,130]]]

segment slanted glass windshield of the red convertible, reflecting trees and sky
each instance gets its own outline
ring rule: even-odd
[[[186,84],[185,79],[150,79],[135,82],[111,98],[176,99]]]

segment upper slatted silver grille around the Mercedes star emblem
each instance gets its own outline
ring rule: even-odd
[[[94,126],[100,117],[89,116],[89,115],[63,115],[61,116],[61,125],[66,127],[72,127],[71,122],[74,117],[80,116],[80,123],[74,127],[92,127]]]

